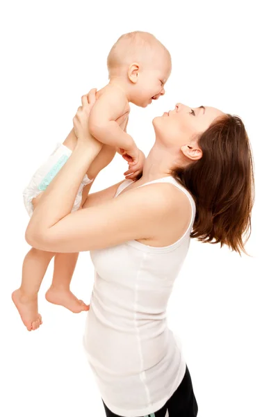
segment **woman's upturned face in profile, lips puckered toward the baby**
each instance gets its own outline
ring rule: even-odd
[[[156,139],[169,147],[187,145],[206,131],[216,117],[223,114],[214,107],[192,108],[177,103],[174,110],[154,118]]]

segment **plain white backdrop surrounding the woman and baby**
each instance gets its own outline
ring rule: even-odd
[[[80,97],[108,81],[106,56],[122,33],[149,31],[172,54],[166,95],[131,109],[129,133],[147,153],[152,118],[216,106],[243,118],[254,151],[252,257],[192,241],[174,286],[169,324],[183,343],[200,417],[278,416],[277,67],[274,1],[6,1],[1,30],[1,402],[6,417],[104,416],[85,359],[85,313],[47,304],[28,333],[10,300],[19,286],[28,215],[22,190],[72,127]],[[116,156],[92,190],[120,181]],[[88,302],[93,267],[82,253],[72,289]],[[3,410],[2,410],[3,408]],[[2,412],[1,412],[2,411]]]

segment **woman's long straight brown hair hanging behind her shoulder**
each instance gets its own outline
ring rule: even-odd
[[[218,117],[199,137],[198,144],[202,158],[172,169],[172,176],[195,199],[197,211],[191,237],[246,253],[244,245],[251,233],[254,204],[254,171],[245,126],[238,116]]]

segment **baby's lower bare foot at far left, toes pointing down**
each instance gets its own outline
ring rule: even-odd
[[[12,300],[28,332],[36,330],[42,325],[42,316],[38,313],[38,297],[26,297],[18,288],[13,292]]]

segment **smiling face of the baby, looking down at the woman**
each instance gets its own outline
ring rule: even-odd
[[[152,104],[152,100],[157,100],[164,95],[165,83],[170,76],[171,69],[170,57],[162,56],[140,71],[133,103],[140,107],[147,107]]]

